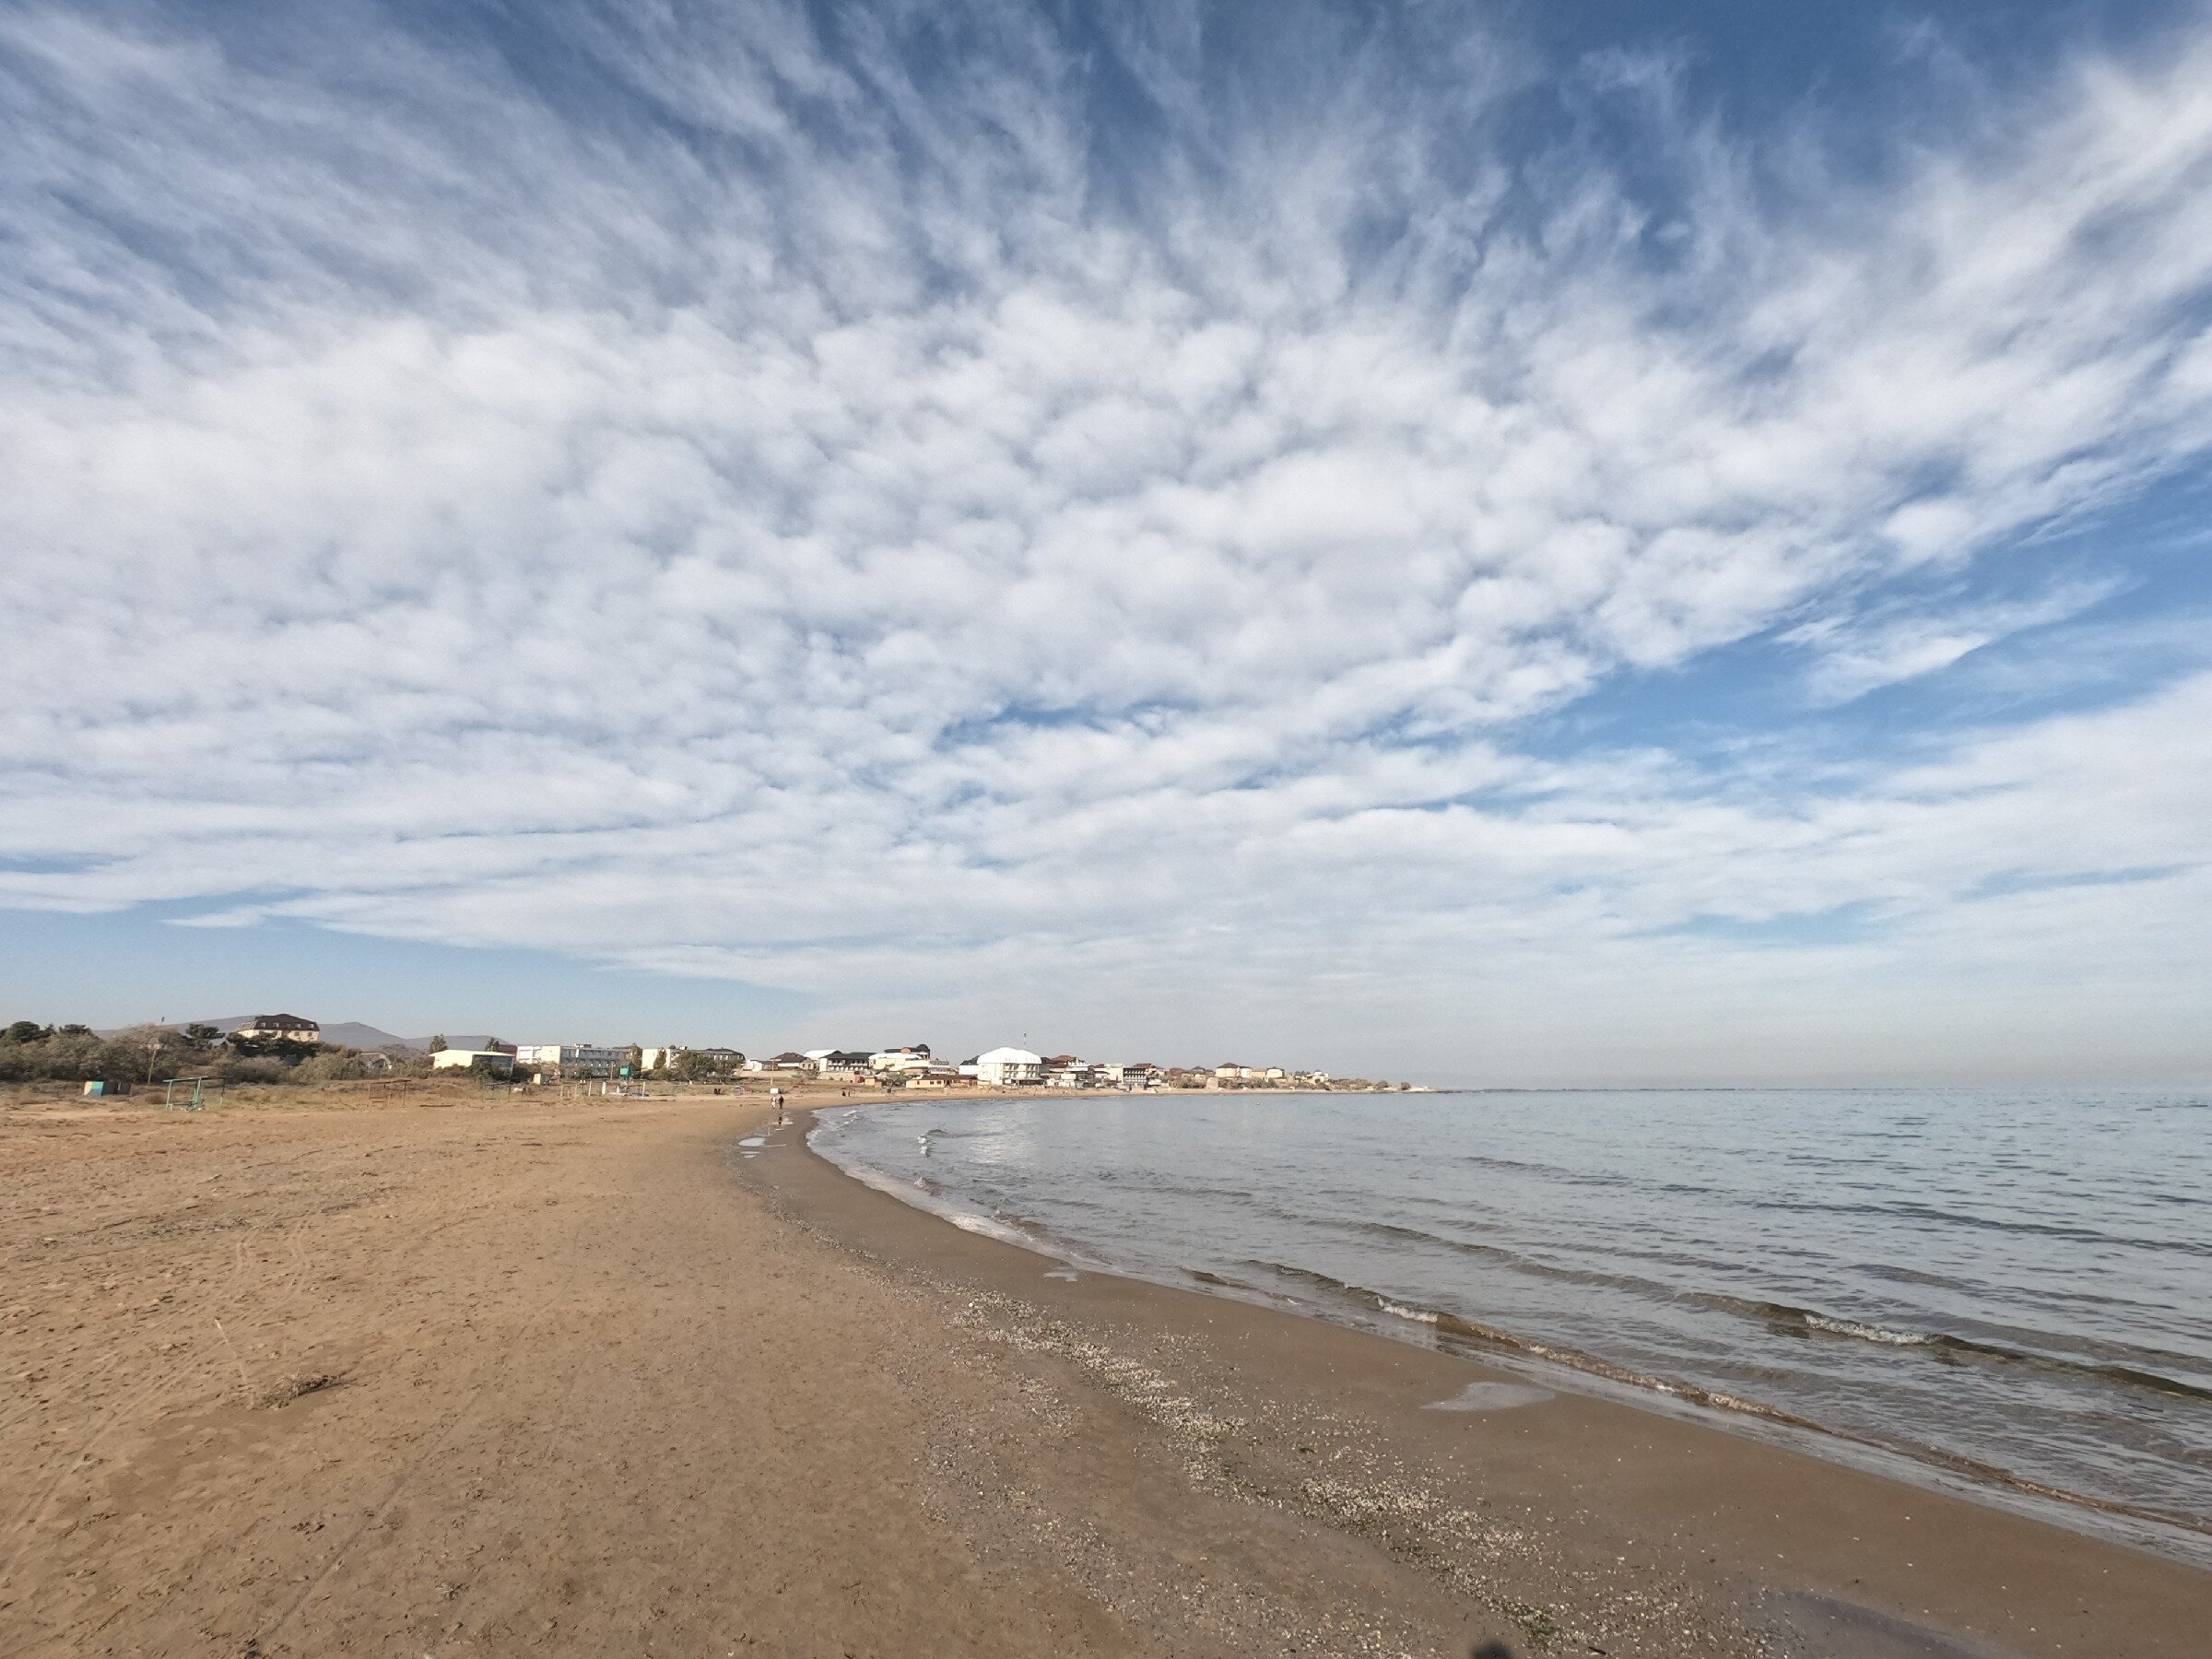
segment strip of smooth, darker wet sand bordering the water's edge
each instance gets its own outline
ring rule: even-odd
[[[1887,1621],[1885,1639],[1902,1644],[1836,1646],[1834,1652],[2181,1655],[2199,1650],[2201,1630],[2212,1621],[2212,1575],[2201,1568],[1991,1502],[1982,1489],[1964,1495],[1936,1480],[1907,1482],[1743,1433],[1703,1409],[1672,1411],[1610,1391],[1542,1389],[1533,1380],[1542,1376],[1537,1365],[1500,1365],[1411,1334],[1358,1329],[1203,1285],[1062,1265],[1031,1241],[962,1228],[838,1168],[805,1144],[816,1113],[834,1106],[852,1102],[794,1110],[792,1144],[748,1166],[827,1237],[894,1267],[951,1274],[989,1294],[1020,1296],[1060,1318],[1106,1316],[1119,1323],[1124,1338],[1150,1332],[1155,1340],[1164,1334],[1166,1340],[1201,1343],[1225,1371],[1239,1367],[1223,1360],[1223,1343],[1265,1347],[1267,1383],[1281,1396],[1305,1405],[1323,1400],[1325,1409],[1347,1394],[1369,1405],[1387,1396],[1387,1420],[1378,1427],[1389,1442],[1411,1451],[1411,1464],[1460,1462],[1486,1475],[1511,1471],[1515,1498],[1533,1509],[1544,1506],[1546,1491],[1579,1493],[1626,1478],[1635,1500],[1624,1520],[1637,1546],[1648,1548],[1657,1535],[1699,1537],[1705,1562],[1681,1559],[1674,1571],[1701,1582],[1705,1593],[1736,1606],[1816,1597],[1860,1608]],[[1531,1387],[1551,1398],[1495,1413],[1438,1409],[1462,1389]],[[1540,1422],[1546,1413],[1555,1422]],[[1453,1429],[1438,1431],[1438,1422]],[[1506,1436],[1469,1436],[1460,1427],[1469,1422],[1511,1425],[1511,1440],[1520,1444],[1500,1447]],[[1469,1458],[1469,1440],[1482,1442],[1480,1460]],[[1542,1444],[1533,1462],[1531,1440]],[[1630,1467],[1632,1475],[1619,1473]],[[1473,1482],[1469,1495],[1478,1486]],[[1761,1520],[1752,1522],[1754,1515]],[[1588,1515],[1559,1517],[1555,1526],[1562,1533],[1608,1531]],[[1597,1553],[1604,1548],[1610,1544]],[[1787,1571],[1776,1573],[1776,1562]],[[2119,1584],[2130,1588],[2119,1590]],[[2095,1641],[2084,1639],[2084,1624],[2099,1630]]]

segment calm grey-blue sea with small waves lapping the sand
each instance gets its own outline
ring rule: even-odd
[[[1022,1097],[814,1144],[1077,1261],[2212,1564],[2212,1095]]]

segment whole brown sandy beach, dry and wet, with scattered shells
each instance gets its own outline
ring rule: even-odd
[[[425,1099],[0,1113],[0,1650],[2179,1659],[2212,1628],[2212,1577],[2115,1544],[1071,1274],[757,1102]]]

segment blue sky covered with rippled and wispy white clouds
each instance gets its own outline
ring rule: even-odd
[[[2212,1079],[2201,4],[0,13],[0,1018]]]

